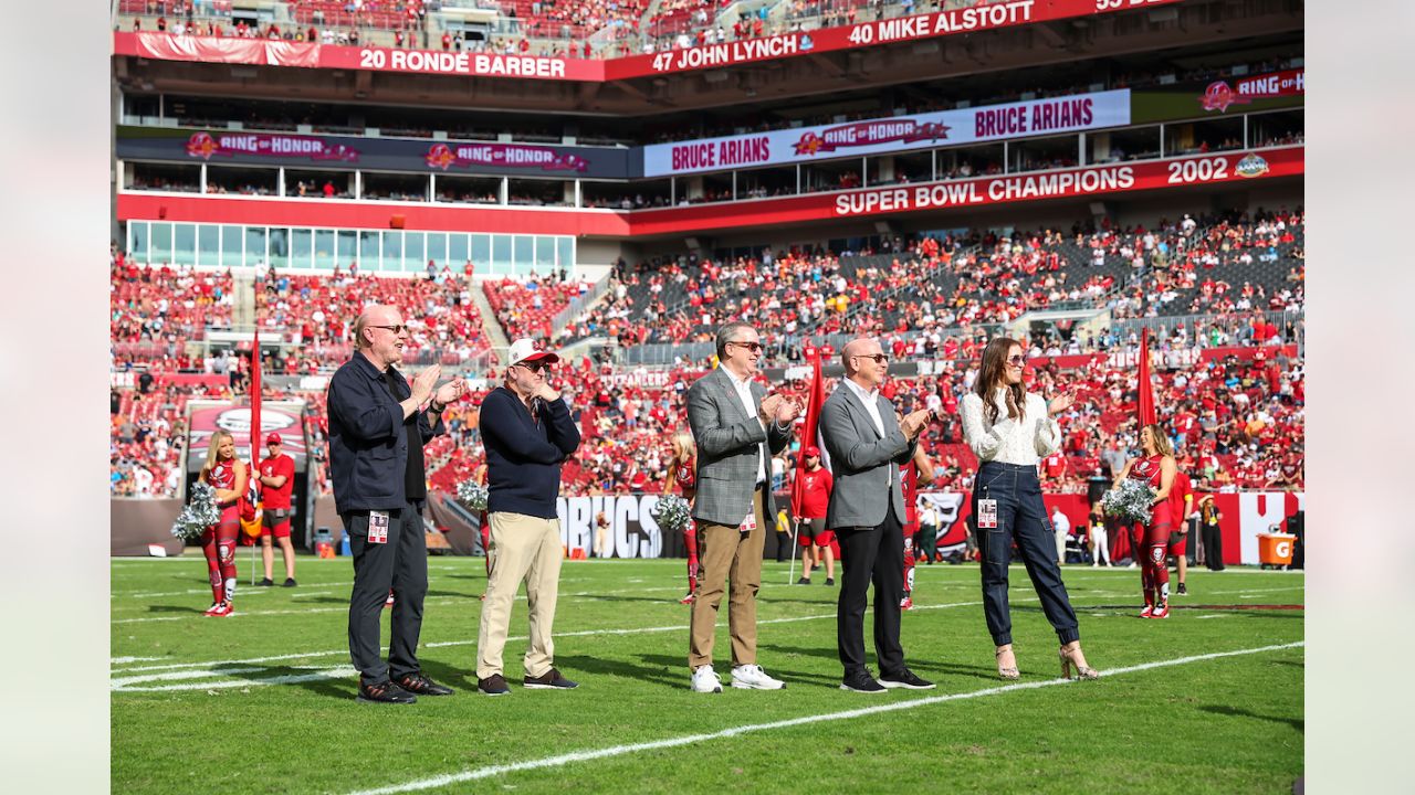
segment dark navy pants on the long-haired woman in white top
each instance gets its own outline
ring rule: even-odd
[[[1037,468],[1020,464],[988,461],[978,468],[974,481],[972,512],[978,516],[979,499],[998,501],[998,526],[978,528],[978,549],[982,553],[982,611],[995,645],[1012,642],[1012,613],[1007,607],[1007,560],[1012,542],[1017,542],[1022,563],[1032,577],[1032,587],[1041,598],[1041,610],[1057,631],[1063,645],[1081,639],[1081,631],[1061,583],[1057,566],[1057,542],[1041,504],[1041,482]]]

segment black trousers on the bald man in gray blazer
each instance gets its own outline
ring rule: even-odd
[[[835,614],[836,646],[845,678],[866,671],[865,603],[874,583],[874,658],[880,676],[904,671],[904,649],[899,645],[899,603],[904,598],[904,526],[894,505],[877,528],[836,528],[841,557],[845,559],[841,601]]]

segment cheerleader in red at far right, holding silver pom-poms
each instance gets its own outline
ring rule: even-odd
[[[1174,529],[1174,516],[1169,491],[1174,485],[1174,448],[1169,436],[1159,424],[1140,429],[1139,458],[1132,458],[1115,478],[1121,485],[1125,478],[1136,480],[1155,489],[1155,504],[1150,506],[1148,525],[1136,522],[1131,529],[1133,555],[1140,560],[1140,587],[1145,590],[1145,610],[1140,618],[1169,618],[1169,533]]]

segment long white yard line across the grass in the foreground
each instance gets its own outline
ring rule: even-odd
[[[1194,663],[1194,662],[1206,662],[1206,661],[1210,661],[1210,659],[1220,659],[1220,658],[1227,658],[1227,656],[1240,656],[1240,655],[1252,655],[1252,654],[1262,654],[1262,652],[1272,652],[1272,651],[1285,651],[1285,649],[1292,649],[1292,648],[1300,648],[1303,645],[1305,645],[1305,642],[1299,641],[1299,642],[1295,642],[1295,644],[1282,644],[1282,645],[1272,645],[1272,646],[1258,646],[1258,648],[1249,648],[1249,649],[1237,649],[1237,651],[1231,651],[1231,652],[1214,652],[1214,654],[1204,654],[1204,655],[1194,655],[1194,656],[1182,656],[1182,658],[1176,658],[1176,659],[1163,659],[1163,661],[1156,661],[1156,662],[1145,662],[1145,663],[1140,663],[1140,665],[1131,665],[1131,666],[1126,666],[1126,668],[1115,668],[1115,669],[1107,671],[1107,672],[1104,672],[1104,676],[1119,676],[1119,675],[1125,675],[1125,673],[1138,673],[1140,671],[1152,671],[1152,669],[1156,669],[1156,668],[1170,668],[1170,666],[1174,666],[1174,665],[1189,665],[1189,663]],[[526,771],[526,770],[555,768],[555,767],[563,767],[563,765],[569,765],[569,764],[574,764],[574,762],[586,762],[586,761],[594,761],[594,760],[606,760],[606,758],[611,758],[611,757],[623,757],[623,755],[635,754],[635,753],[640,753],[640,751],[655,751],[655,750],[659,750],[659,748],[676,748],[676,747],[681,747],[681,745],[693,745],[693,744],[699,744],[699,743],[708,743],[708,741],[712,741],[712,740],[723,740],[723,738],[730,738],[730,737],[740,737],[743,734],[750,734],[750,733],[754,733],[754,731],[771,731],[771,730],[777,730],[777,729],[792,729],[792,727],[797,727],[797,726],[807,726],[807,724],[812,724],[812,723],[828,723],[828,721],[836,721],[836,720],[850,720],[850,719],[856,719],[856,717],[867,717],[867,716],[872,716],[872,714],[880,714],[880,713],[887,713],[887,712],[900,712],[900,710],[910,710],[910,709],[917,709],[917,707],[923,707],[923,706],[940,704],[940,703],[944,703],[944,702],[959,702],[959,700],[965,700],[965,699],[978,699],[978,697],[982,697],[982,696],[996,696],[996,695],[1010,693],[1010,692],[1016,692],[1016,690],[1036,690],[1036,689],[1040,689],[1040,687],[1054,687],[1057,685],[1067,685],[1067,683],[1068,683],[1067,679],[1049,679],[1049,680],[1043,680],[1043,682],[1024,682],[1024,683],[1017,683],[1017,685],[1003,685],[1003,686],[999,686],[999,687],[986,687],[986,689],[982,689],[982,690],[969,690],[966,693],[948,693],[948,695],[941,695],[941,696],[928,696],[928,697],[923,697],[923,699],[899,700],[899,702],[890,702],[890,703],[884,703],[884,704],[876,704],[876,706],[872,706],[872,707],[860,707],[860,709],[855,709],[855,710],[843,710],[843,712],[822,713],[822,714],[808,714],[808,716],[802,716],[802,717],[792,717],[792,719],[788,719],[788,720],[775,720],[775,721],[771,721],[771,723],[749,723],[749,724],[733,726],[730,729],[723,729],[720,731],[712,731],[712,733],[706,733],[706,734],[691,734],[691,736],[681,736],[681,737],[668,737],[668,738],[664,738],[664,740],[654,740],[654,741],[649,741],[649,743],[634,743],[634,744],[627,744],[627,745],[611,745],[608,748],[596,748],[596,750],[587,750],[587,751],[574,751],[574,753],[570,753],[570,754],[560,754],[560,755],[556,755],[556,757],[543,757],[543,758],[539,758],[539,760],[528,760],[528,761],[524,761],[524,762],[514,762],[514,764],[507,764],[507,765],[490,765],[490,767],[483,767],[483,768],[466,770],[466,771],[461,771],[461,772],[444,774],[444,775],[437,775],[437,777],[432,777],[432,778],[422,778],[422,779],[409,781],[409,782],[405,782],[405,784],[395,784],[395,785],[391,785],[391,787],[381,787],[378,789],[361,789],[361,791],[352,792],[350,795],[393,795],[396,792],[415,792],[415,791],[419,791],[419,789],[434,789],[434,788],[439,788],[439,787],[449,787],[449,785],[460,784],[460,782],[464,782],[464,781],[475,781],[475,779],[481,779],[481,778],[491,778],[494,775],[502,775],[502,774],[508,774],[508,772],[519,772],[519,771]],[[1088,687],[1088,686],[1095,686],[1095,685],[1081,683],[1080,686],[1081,687]]]

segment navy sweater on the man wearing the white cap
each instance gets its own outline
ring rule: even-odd
[[[536,423],[515,392],[498,386],[481,402],[481,439],[487,446],[487,512],[555,519],[560,463],[580,446],[580,429],[565,400],[545,403]]]

